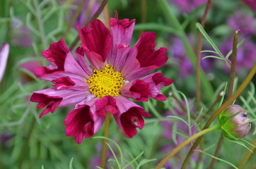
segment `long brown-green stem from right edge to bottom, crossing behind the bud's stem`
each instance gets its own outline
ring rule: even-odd
[[[233,94],[231,96],[231,98],[229,98],[221,107],[219,107],[209,118],[209,120],[206,122],[206,124],[204,125],[203,129],[208,128],[211,123],[214,121],[214,119],[219,115],[219,113],[221,113],[223,110],[225,110],[225,108],[227,108],[229,105],[231,105],[233,103],[233,101],[235,101],[235,99],[238,98],[238,96],[240,96],[240,94],[243,92],[243,90],[245,89],[245,87],[247,87],[247,85],[249,84],[250,80],[252,80],[252,77],[255,75],[256,73],[256,63],[253,65],[252,70],[250,70],[250,73],[248,74],[248,76],[245,78],[245,80],[243,81],[243,83],[240,85],[240,87],[238,88],[238,90],[235,92],[235,94]],[[190,157],[193,154],[194,149],[197,148],[199,142],[201,141],[202,137],[199,137],[196,142],[194,142],[193,146],[191,147],[189,153],[187,154],[185,161],[182,164],[182,168],[185,169],[187,166],[188,161],[190,160]]]

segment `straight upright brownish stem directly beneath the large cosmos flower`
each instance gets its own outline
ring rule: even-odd
[[[105,118],[105,129],[104,129],[104,137],[108,137],[108,129],[110,127],[110,113],[107,112]],[[101,165],[100,168],[105,168],[106,165],[106,156],[107,156],[107,139],[103,139],[103,149],[101,151]]]

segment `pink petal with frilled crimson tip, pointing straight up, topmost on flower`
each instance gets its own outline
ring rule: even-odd
[[[129,19],[118,20],[117,12],[115,12],[115,18],[110,18],[110,29],[112,31],[112,49],[107,57],[107,63],[114,65],[114,68],[118,67],[116,71],[119,71],[126,60],[127,54],[119,54],[129,51],[129,44],[132,39],[132,32],[134,30],[135,20],[129,21]]]

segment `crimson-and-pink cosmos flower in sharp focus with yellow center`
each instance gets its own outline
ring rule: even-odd
[[[136,134],[136,127],[144,127],[143,117],[150,117],[135,101],[149,97],[165,100],[161,87],[173,83],[162,73],[150,73],[163,66],[167,49],[155,50],[156,34],[144,32],[130,48],[135,20],[110,18],[110,30],[100,20],[88,27],[78,27],[81,46],[72,56],[63,39],[50,44],[42,52],[51,64],[35,69],[35,75],[52,82],[52,88],[33,92],[30,101],[40,114],[54,113],[56,108],[76,104],[64,120],[66,136],[80,144],[83,137],[91,137],[103,125],[107,112],[114,116],[126,137]],[[84,58],[88,59],[90,65]],[[144,76],[146,75],[146,76]]]

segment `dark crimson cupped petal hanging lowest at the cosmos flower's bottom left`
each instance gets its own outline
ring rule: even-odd
[[[89,106],[70,111],[64,124],[66,125],[66,136],[73,136],[78,144],[83,141],[83,137],[92,137],[94,134],[93,113]]]

